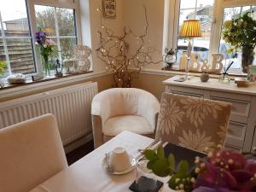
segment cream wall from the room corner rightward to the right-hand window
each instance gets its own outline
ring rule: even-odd
[[[138,35],[143,34],[145,27],[144,9],[148,13],[148,36],[146,47],[157,49],[154,54],[154,61],[159,61],[162,55],[165,0],[123,0],[124,24],[131,26],[131,29]],[[134,44],[134,42],[131,42]],[[149,65],[146,68],[160,69],[163,63]]]

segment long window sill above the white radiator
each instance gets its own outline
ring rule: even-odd
[[[104,76],[107,74],[108,73],[106,72],[94,73],[90,71],[79,74],[65,74],[61,78],[57,78],[55,77],[55,75],[52,75],[49,78],[40,79],[38,81],[32,81],[32,79],[27,79],[25,84],[6,84],[5,87],[0,88],[0,100],[4,100],[7,97],[29,94],[30,92],[38,90],[45,90],[57,86],[63,86],[65,84],[72,84],[86,79]]]

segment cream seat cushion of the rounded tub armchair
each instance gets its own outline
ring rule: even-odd
[[[123,115],[110,118],[102,129],[103,134],[106,136],[116,136],[126,130],[142,135],[154,133],[154,128],[151,127],[148,120],[137,115]]]

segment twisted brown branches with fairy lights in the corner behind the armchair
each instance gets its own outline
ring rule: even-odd
[[[138,77],[142,68],[150,64],[158,64],[162,61],[154,61],[152,55],[156,49],[145,49],[145,38],[148,36],[148,15],[145,5],[145,30],[142,35],[137,35],[131,28],[125,26],[123,35],[115,35],[113,30],[103,25],[102,9],[97,9],[101,14],[102,30],[98,31],[99,46],[96,49],[97,57],[106,64],[106,69],[113,73],[116,87],[131,87],[131,79]],[[136,51],[131,53],[127,38],[135,38]]]

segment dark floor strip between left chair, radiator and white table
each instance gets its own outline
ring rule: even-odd
[[[72,152],[66,154],[68,166],[72,165],[75,161],[80,160],[86,154],[89,154],[93,151],[93,141],[85,143],[79,148],[74,149]]]

